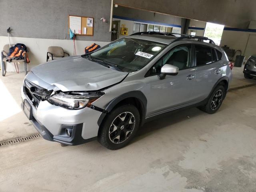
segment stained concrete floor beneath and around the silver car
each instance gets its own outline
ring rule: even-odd
[[[256,80],[241,72],[234,68],[232,90],[216,114],[191,108],[149,122],[120,150],[42,138],[0,147],[0,192],[256,192],[256,86],[236,89]],[[22,76],[0,78],[15,109]],[[18,109],[12,116],[2,109],[0,141],[36,133]]]

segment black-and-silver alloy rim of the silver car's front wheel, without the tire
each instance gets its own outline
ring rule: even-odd
[[[127,140],[135,126],[135,117],[131,112],[123,112],[112,121],[108,135],[111,142],[119,144]]]

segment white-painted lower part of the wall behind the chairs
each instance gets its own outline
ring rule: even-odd
[[[10,43],[23,43],[28,48],[28,56],[30,63],[27,65],[28,70],[32,67],[46,62],[46,53],[49,46],[60,46],[65,52],[69,53],[70,56],[73,55],[73,40],[60,40],[60,39],[41,39],[41,38],[23,38],[23,37],[10,37]],[[104,46],[109,42],[97,42],[97,41],[82,41],[76,40],[76,54],[84,54],[84,48],[92,43],[96,43],[100,46]],[[8,43],[7,36],[0,36],[0,50],[5,44]],[[18,64],[20,71],[24,71],[24,64]],[[13,63],[6,64],[6,71],[15,72],[15,67]]]

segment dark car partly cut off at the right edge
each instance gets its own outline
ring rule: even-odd
[[[244,65],[244,78],[252,79],[256,77],[256,54],[250,56]]]

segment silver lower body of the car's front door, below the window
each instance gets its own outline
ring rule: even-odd
[[[193,102],[191,94],[195,78],[187,79],[190,74],[195,76],[196,70],[181,70],[177,76],[167,75],[163,80],[157,75],[147,77],[150,90],[147,94],[147,116]]]

